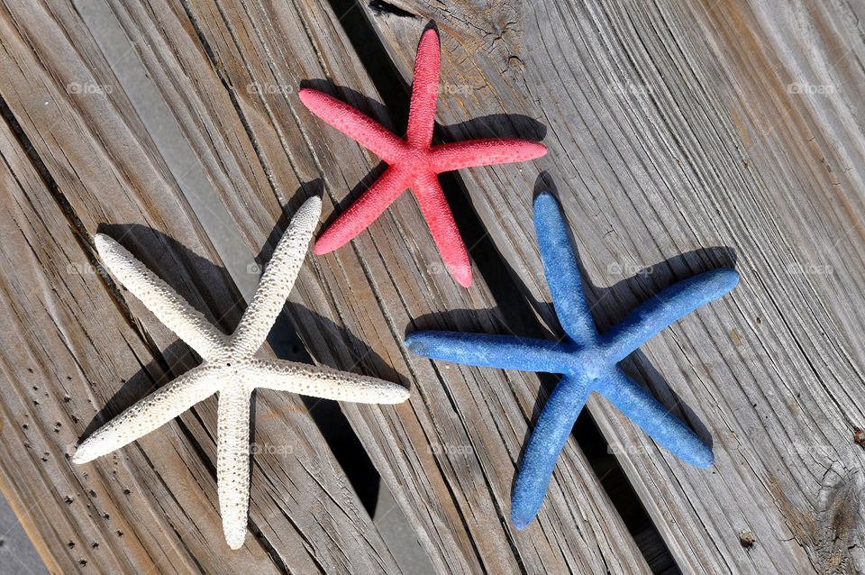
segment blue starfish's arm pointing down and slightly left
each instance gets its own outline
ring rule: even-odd
[[[517,529],[524,529],[538,515],[561,448],[592,392],[588,381],[587,378],[563,376],[543,406],[525,448],[511,498],[511,523]]]

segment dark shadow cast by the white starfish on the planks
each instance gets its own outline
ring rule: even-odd
[[[309,187],[317,191],[315,188],[318,186],[320,186],[320,183],[311,182],[302,188],[296,195],[300,199],[297,204],[302,203],[305,196],[309,195],[310,190],[305,190],[305,188]],[[269,234],[268,242],[260,251],[259,257],[256,259],[259,264],[267,264],[270,254],[287,228],[291,219],[290,214],[294,213],[294,208],[296,208],[294,201],[289,202],[289,204],[292,205],[292,208],[286,206],[278,224]],[[203,312],[207,320],[223,331],[223,333],[232,333],[234,327],[240,322],[246,303],[241,294],[234,288],[228,271],[223,267],[217,266],[212,261],[198,256],[193,251],[189,251],[183,244],[169,238],[167,235],[140,224],[100,224],[98,232],[110,235],[118,242],[121,242],[127,250],[132,252],[133,256],[141,260],[159,278],[162,278],[169,286],[177,290],[178,294],[186,298],[192,306]],[[114,283],[113,278],[107,274],[104,274],[104,278],[109,284],[109,288],[115,290],[123,298],[123,301],[134,299],[134,296],[120,287],[119,284]],[[214,317],[212,306],[208,305],[207,302],[225,302],[219,306],[220,313],[222,314],[221,318],[217,319]],[[124,307],[124,304],[121,304],[121,307]],[[320,315],[314,314],[304,306],[287,302],[284,309],[289,311],[289,314],[283,313],[278,316],[268,336],[268,343],[279,359],[313,363],[312,357],[296,335],[296,329],[292,320],[288,317],[288,315],[292,315],[296,318],[296,321],[302,324],[305,324],[305,322],[314,324],[315,329],[321,333],[322,338],[327,338],[329,344],[332,344],[332,342],[344,342],[345,345],[349,346],[349,350],[355,354],[353,357],[360,358],[360,360],[354,361],[353,364],[351,362],[348,365],[329,364],[329,367],[357,372],[357,367],[360,365],[363,366],[364,373],[377,373],[386,379],[389,376],[391,380],[400,381],[405,387],[408,387],[404,377],[387,366],[387,363],[377,353],[369,349],[368,346],[350,333],[349,330],[333,324],[330,320]],[[124,309],[123,312],[128,313],[128,310]],[[310,331],[312,332],[312,330]],[[146,397],[155,389],[167,384],[187,370],[196,367],[201,362],[197,354],[184,342],[178,340],[171,343],[164,350],[159,350],[159,347],[150,340],[146,332],[140,330],[140,333],[155,359],[147,365],[140,363],[141,370],[133,374],[129,379],[122,380],[123,385],[121,388],[114,393],[114,396],[105,403],[105,406],[87,424],[87,428],[79,438],[78,443],[86,440],[96,429],[111,420],[115,415],[122,413],[126,407],[132,406],[142,397]],[[250,408],[250,443],[256,441],[256,395],[257,393],[252,395]],[[345,415],[342,414],[339,403],[317,397],[300,397],[309,415],[313,418],[314,423],[328,443],[335,459],[340,463],[352,487],[358,493],[361,504],[371,516],[375,511],[378,499],[380,476],[369,459],[369,455],[363,448],[362,443],[360,443],[360,439],[351,429],[351,424],[349,424]],[[209,397],[205,401],[214,401],[214,397]],[[186,426],[182,423],[181,429],[190,440],[194,440]],[[213,432],[212,435],[214,435],[215,426],[208,431]],[[194,441],[190,443],[197,451],[201,452],[201,449]],[[201,453],[202,460],[205,461],[208,470],[215,477],[215,461],[209,461],[204,456],[204,453]],[[251,455],[253,461],[255,457],[255,454]]]

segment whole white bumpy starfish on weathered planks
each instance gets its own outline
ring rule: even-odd
[[[297,211],[231,337],[209,324],[203,314],[123,246],[106,235],[96,235],[96,249],[114,277],[204,362],[114,417],[78,446],[72,461],[86,463],[113,452],[219,392],[216,450],[219,508],[225,541],[232,549],[238,549],[246,537],[249,507],[253,389],[278,389],[360,403],[405,401],[408,390],[396,383],[303,363],[252,357],[265,342],[294,286],[321,211],[318,197],[308,199]]]

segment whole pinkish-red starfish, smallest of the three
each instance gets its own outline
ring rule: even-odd
[[[536,141],[488,139],[432,145],[435,99],[439,87],[439,37],[423,32],[414,63],[412,102],[405,139],[355,108],[317,90],[304,88],[300,99],[313,114],[360,142],[388,164],[385,173],[325,230],[315,242],[315,253],[336,250],[351,241],[387,209],[396,196],[411,187],[430,226],[442,259],[460,285],[471,285],[471,264],[437,174],[471,166],[533,160],[547,152]]]

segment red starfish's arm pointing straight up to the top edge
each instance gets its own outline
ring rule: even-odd
[[[439,36],[430,28],[421,36],[417,59],[414,61],[412,103],[408,111],[408,128],[405,131],[405,141],[409,146],[426,148],[432,141],[441,57]]]

